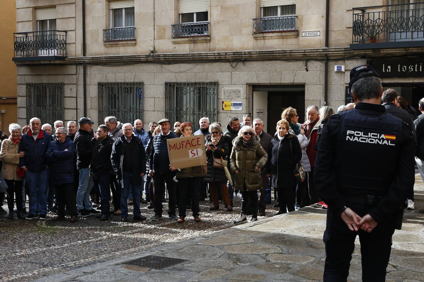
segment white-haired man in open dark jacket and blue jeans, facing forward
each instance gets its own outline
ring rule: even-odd
[[[142,141],[133,135],[131,123],[122,126],[124,135],[119,137],[112,146],[112,167],[117,180],[122,185],[121,190],[121,221],[128,221],[128,192],[130,186],[134,198],[134,220],[146,220],[140,213],[140,190],[143,176],[146,174],[145,150]]]

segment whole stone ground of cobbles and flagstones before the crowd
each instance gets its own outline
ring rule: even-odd
[[[402,230],[393,235],[386,281],[424,281],[424,215],[418,214],[424,207],[424,189],[419,175],[415,190],[416,209],[405,212]],[[305,207],[234,226],[231,222],[240,208],[232,213],[206,212],[207,205],[202,203],[204,222],[199,224],[190,217],[182,225],[167,219],[100,223],[92,218],[77,225],[53,225],[49,220],[13,225],[3,219],[1,278],[82,282],[322,279],[325,210]],[[239,200],[234,205],[239,207]],[[139,258],[143,259],[131,262]],[[357,241],[349,281],[361,280],[360,259]]]

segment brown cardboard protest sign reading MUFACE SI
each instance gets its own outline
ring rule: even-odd
[[[171,167],[184,168],[206,165],[205,139],[202,135],[167,140]]]

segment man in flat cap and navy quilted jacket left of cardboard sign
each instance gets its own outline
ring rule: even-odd
[[[162,132],[157,134],[152,139],[152,147],[150,156],[148,156],[150,163],[149,176],[153,178],[153,192],[155,198],[155,216],[153,220],[162,219],[162,194],[163,186],[166,182],[168,189],[168,215],[170,219],[177,220],[175,214],[175,171],[170,170],[169,155],[167,148],[167,139],[177,138],[172,131],[170,131],[171,123],[167,118],[159,120],[159,125],[162,127]]]

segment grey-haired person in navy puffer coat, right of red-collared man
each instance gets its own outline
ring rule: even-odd
[[[67,136],[64,127],[55,132],[56,139],[49,143],[45,153],[50,168],[50,183],[56,192],[57,216],[52,221],[65,219],[65,204],[69,208],[70,222],[78,220],[74,193],[74,154],[75,144]]]

